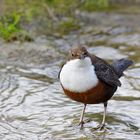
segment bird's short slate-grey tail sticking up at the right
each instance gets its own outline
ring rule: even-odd
[[[117,75],[121,77],[123,75],[123,71],[127,69],[130,65],[133,64],[133,61],[128,59],[119,59],[114,61],[111,66],[116,71]]]

